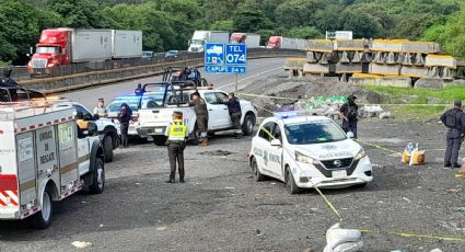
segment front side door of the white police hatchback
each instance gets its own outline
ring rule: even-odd
[[[271,126],[271,137],[268,144],[268,169],[274,176],[281,179],[282,177],[282,137],[281,129],[277,123],[272,123]],[[279,139],[281,141],[280,146],[271,146],[274,139]]]

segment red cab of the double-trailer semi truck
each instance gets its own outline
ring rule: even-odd
[[[56,66],[70,64],[70,30],[44,30],[27,64],[31,76],[50,75]]]

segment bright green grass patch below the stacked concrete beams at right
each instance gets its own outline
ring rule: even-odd
[[[441,90],[374,85],[367,85],[363,88],[384,94],[390,100],[386,101],[387,103],[409,104],[405,106],[382,104],[382,106],[385,110],[391,111],[395,119],[398,121],[427,122],[431,119],[439,119],[446,108],[452,107],[452,104],[456,99],[465,101],[465,87],[462,85],[447,87]],[[415,106],[415,104],[418,104],[418,106]]]

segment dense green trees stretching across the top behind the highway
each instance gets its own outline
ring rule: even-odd
[[[465,0],[1,0],[0,61],[25,64],[47,27],[143,31],[143,48],[186,49],[195,30],[319,38],[351,30],[356,37],[437,41],[465,57]]]

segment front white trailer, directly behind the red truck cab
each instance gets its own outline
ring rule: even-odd
[[[112,59],[112,30],[71,30],[71,62]]]

